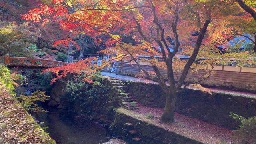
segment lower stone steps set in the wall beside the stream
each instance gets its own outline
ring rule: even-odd
[[[142,141],[142,138],[140,137],[140,133],[134,129],[134,124],[127,122],[124,123],[124,127],[128,130],[128,137],[132,138],[132,144],[140,144]]]

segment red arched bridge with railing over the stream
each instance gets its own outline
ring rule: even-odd
[[[57,66],[65,66],[68,63],[56,60],[46,60],[42,58],[24,58],[9,57],[8,54],[0,57],[0,61],[4,61],[4,65],[8,68],[28,68],[28,69],[47,69]]]

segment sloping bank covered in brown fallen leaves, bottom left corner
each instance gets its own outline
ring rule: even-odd
[[[56,144],[1,83],[0,143]]]

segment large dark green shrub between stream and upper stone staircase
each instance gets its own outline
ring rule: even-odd
[[[67,83],[65,95],[60,97],[63,112],[110,125],[118,107],[116,91],[105,79],[93,77],[93,84],[82,79],[77,76]]]

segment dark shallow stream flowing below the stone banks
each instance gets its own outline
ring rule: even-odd
[[[48,112],[32,113],[41,127],[48,126],[50,133],[58,144],[102,144],[112,138],[108,130],[90,121],[77,122],[71,116],[61,114],[56,108],[46,108]],[[39,123],[38,122],[38,123]]]

